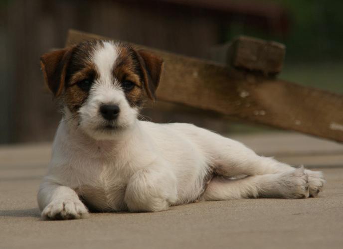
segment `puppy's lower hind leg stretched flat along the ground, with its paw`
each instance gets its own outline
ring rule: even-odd
[[[309,197],[308,175],[302,167],[283,173],[247,176],[235,180],[215,176],[200,200],[217,201],[258,197],[307,198]]]

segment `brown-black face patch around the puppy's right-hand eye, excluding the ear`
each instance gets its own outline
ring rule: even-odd
[[[118,45],[119,55],[114,65],[114,77],[123,87],[127,101],[131,107],[140,107],[143,102],[142,71],[134,49],[127,44]],[[125,82],[135,84],[131,90],[126,90]]]

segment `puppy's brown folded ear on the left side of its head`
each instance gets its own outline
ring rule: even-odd
[[[55,50],[40,57],[40,67],[44,81],[55,97],[58,97],[64,87],[68,63],[74,47]]]

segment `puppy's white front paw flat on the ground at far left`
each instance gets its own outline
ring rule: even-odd
[[[71,220],[88,216],[88,210],[80,200],[58,199],[47,205],[42,214],[46,220]]]

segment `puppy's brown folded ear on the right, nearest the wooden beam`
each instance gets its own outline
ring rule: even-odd
[[[156,100],[155,92],[161,79],[163,59],[144,50],[138,50],[137,54],[147,95],[151,100]]]

